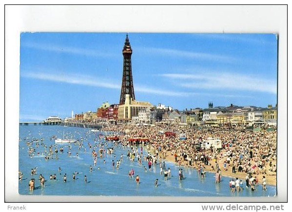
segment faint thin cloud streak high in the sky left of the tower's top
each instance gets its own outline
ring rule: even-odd
[[[21,47],[26,48],[34,48],[43,51],[52,51],[58,53],[66,53],[66,54],[76,54],[83,55],[88,57],[112,57],[114,54],[106,53],[100,50],[92,50],[88,48],[76,48],[71,46],[58,46],[49,43],[33,43],[33,42],[23,42],[21,43]]]

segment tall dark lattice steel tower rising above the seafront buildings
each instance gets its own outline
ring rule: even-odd
[[[130,42],[128,39],[128,34],[126,34],[125,45],[123,48],[124,67],[123,67],[123,80],[122,80],[120,105],[125,104],[125,94],[129,94],[130,97],[133,100],[135,100],[133,76],[132,76],[132,65],[131,65],[131,55],[132,55],[132,48],[131,48],[131,45],[130,45]]]

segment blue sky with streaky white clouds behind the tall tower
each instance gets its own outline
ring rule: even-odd
[[[118,104],[125,33],[21,33],[20,121]],[[184,110],[275,106],[274,34],[131,33],[138,101]]]

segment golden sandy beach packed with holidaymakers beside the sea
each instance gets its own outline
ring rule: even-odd
[[[166,129],[165,126],[137,127],[131,125],[111,126],[104,130],[122,132],[120,139],[124,142],[133,137],[149,138],[147,144],[149,151],[153,154],[158,153],[163,160],[171,162],[175,162],[174,154],[176,153],[177,163],[180,166],[190,167],[190,160],[191,167],[194,169],[204,165],[205,171],[214,172],[215,175],[215,162],[217,161],[223,176],[238,177],[245,181],[247,174],[251,173],[252,177],[257,178],[259,184],[262,183],[263,176],[265,176],[267,184],[276,186],[276,130],[253,132],[238,128],[197,129],[186,126],[168,126]],[[161,130],[176,132],[176,135],[166,137],[159,133]],[[186,134],[186,140],[180,140],[180,132]],[[203,148],[198,150],[195,148],[196,144],[209,137],[219,138],[226,145],[222,149]],[[184,154],[188,157],[184,158]],[[197,164],[196,156],[199,158]],[[209,162],[200,161],[203,156]],[[224,170],[224,162],[228,160],[229,163],[226,163],[227,167]],[[232,163],[234,163],[235,173],[232,173]],[[239,167],[243,168],[242,172],[239,172]]]

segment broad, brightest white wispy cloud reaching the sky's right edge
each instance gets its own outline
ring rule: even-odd
[[[200,89],[230,89],[276,94],[277,85],[270,79],[234,73],[162,74],[163,77],[179,81],[178,85]]]

